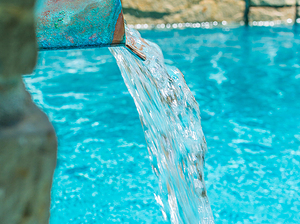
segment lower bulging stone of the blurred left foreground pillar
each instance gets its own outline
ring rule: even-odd
[[[48,223],[56,136],[26,94],[21,121],[0,128],[1,224]]]

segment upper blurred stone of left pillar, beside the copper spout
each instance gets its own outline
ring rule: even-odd
[[[0,0],[1,76],[31,73],[35,66],[33,6],[34,0]]]

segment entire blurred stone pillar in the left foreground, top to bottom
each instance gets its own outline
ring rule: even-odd
[[[0,0],[0,223],[48,223],[57,142],[22,74],[37,57],[34,0]]]

